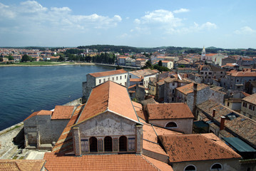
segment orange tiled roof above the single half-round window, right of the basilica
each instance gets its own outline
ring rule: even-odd
[[[186,103],[148,104],[147,111],[149,120],[194,118]]]

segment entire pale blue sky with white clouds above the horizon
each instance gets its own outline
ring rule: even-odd
[[[256,48],[254,0],[0,0],[0,47]]]

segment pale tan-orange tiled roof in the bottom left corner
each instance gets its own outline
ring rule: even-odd
[[[0,160],[0,170],[40,171],[45,160]]]

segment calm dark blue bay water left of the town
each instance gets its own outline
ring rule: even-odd
[[[114,70],[105,66],[0,67],[0,130],[21,122],[33,111],[51,110],[81,98],[87,73]]]

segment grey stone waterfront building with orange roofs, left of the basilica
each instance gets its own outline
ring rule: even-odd
[[[40,110],[24,120],[25,147],[50,149],[66,127],[74,106],[56,105],[54,111]]]

